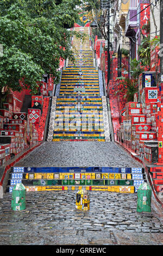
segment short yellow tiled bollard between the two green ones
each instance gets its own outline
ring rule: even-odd
[[[82,211],[90,210],[90,197],[85,188],[77,192],[76,209]]]

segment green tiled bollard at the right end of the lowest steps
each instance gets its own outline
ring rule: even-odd
[[[145,182],[137,190],[137,212],[151,212],[151,187]]]

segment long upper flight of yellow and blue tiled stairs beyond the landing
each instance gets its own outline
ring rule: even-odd
[[[88,35],[89,28],[83,29]],[[72,45],[75,62],[62,71],[47,141],[110,141],[102,73],[93,66],[90,42],[74,38]]]

